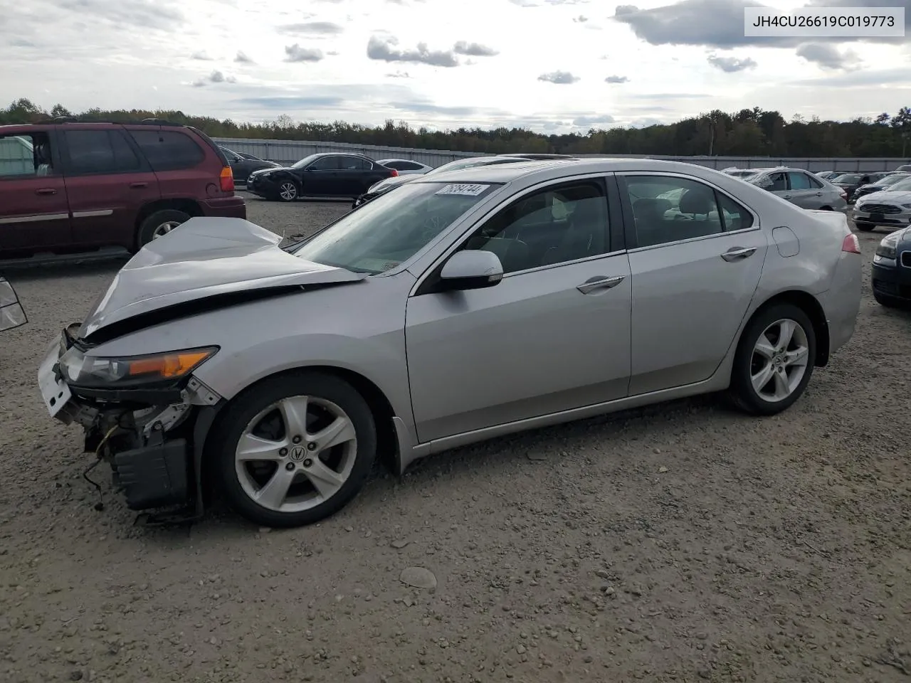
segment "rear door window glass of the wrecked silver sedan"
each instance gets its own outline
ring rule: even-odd
[[[626,186],[639,247],[752,226],[749,211],[697,180],[628,176]]]

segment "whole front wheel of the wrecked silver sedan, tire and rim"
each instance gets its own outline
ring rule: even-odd
[[[376,454],[374,416],[348,382],[293,372],[241,393],[211,448],[230,505],[259,525],[309,525],[360,491]]]

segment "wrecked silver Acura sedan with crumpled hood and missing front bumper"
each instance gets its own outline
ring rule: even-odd
[[[418,178],[308,240],[189,219],[50,342],[48,412],[128,506],[332,515],[377,457],[706,392],[771,415],[854,331],[844,214],[710,168],[523,161]],[[175,518],[174,516],[169,518]]]

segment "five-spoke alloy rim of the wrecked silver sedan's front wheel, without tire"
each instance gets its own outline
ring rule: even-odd
[[[248,423],[235,450],[235,472],[252,501],[273,512],[296,513],[337,494],[356,454],[354,424],[341,407],[292,396]]]

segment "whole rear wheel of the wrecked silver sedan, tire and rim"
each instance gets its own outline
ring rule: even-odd
[[[809,317],[790,303],[755,316],[734,356],[731,395],[747,413],[773,415],[790,407],[813,375],[816,336]]]

